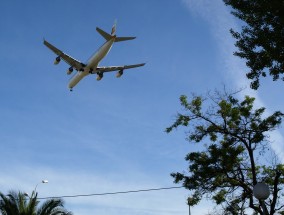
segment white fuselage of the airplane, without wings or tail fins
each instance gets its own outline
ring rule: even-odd
[[[89,60],[86,63],[86,66],[84,67],[83,71],[78,71],[76,75],[70,80],[68,84],[68,88],[72,90],[73,87],[75,87],[79,81],[81,81],[85,76],[89,75],[92,72],[96,72],[96,68],[99,65],[100,61],[108,54],[110,51],[114,41],[115,36],[113,36],[110,40],[106,41],[99,50],[93,54]]]

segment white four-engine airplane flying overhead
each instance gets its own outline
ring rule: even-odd
[[[51,49],[57,57],[55,58],[54,64],[57,65],[61,59],[63,59],[67,64],[70,65],[70,68],[67,70],[67,74],[70,75],[73,72],[73,69],[77,70],[76,75],[71,78],[68,88],[70,91],[73,90],[79,81],[81,81],[85,76],[89,74],[97,74],[97,80],[101,80],[105,72],[118,71],[116,77],[121,77],[123,75],[123,71],[125,69],[131,69],[135,67],[144,66],[145,63],[140,64],[132,64],[132,65],[124,65],[124,66],[98,66],[100,61],[107,55],[109,50],[111,49],[114,42],[120,42],[125,40],[133,40],[136,37],[117,37],[116,32],[116,24],[113,25],[111,34],[106,33],[100,28],[96,28],[96,30],[106,39],[106,42],[99,48],[99,50],[93,54],[86,63],[82,63],[73,57],[67,55],[62,52],[55,46],[51,45],[49,42],[44,40],[44,45],[46,45],[49,49]]]

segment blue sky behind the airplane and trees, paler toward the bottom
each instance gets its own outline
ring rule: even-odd
[[[166,134],[179,96],[223,84],[257,98],[268,113],[281,110],[283,83],[264,80],[251,91],[243,61],[232,55],[229,29],[240,23],[221,0],[2,1],[0,3],[0,190],[40,197],[174,186],[171,172],[198,145],[182,129]],[[117,43],[101,65],[146,62],[117,79],[89,76],[67,89],[68,65],[43,38],[81,61],[104,39],[96,27],[137,39]],[[283,129],[271,135],[283,159]],[[189,192],[160,192],[65,199],[74,214],[186,214]],[[206,201],[192,214],[212,210]]]

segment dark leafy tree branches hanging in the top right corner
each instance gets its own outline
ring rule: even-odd
[[[232,14],[245,22],[241,33],[231,29],[237,39],[234,54],[246,60],[251,88],[258,89],[260,77],[267,74],[284,81],[284,1],[223,0]]]

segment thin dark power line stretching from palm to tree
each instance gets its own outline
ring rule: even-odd
[[[182,188],[182,187],[183,186],[151,188],[151,189],[144,189],[144,190],[117,191],[117,192],[110,192],[110,193],[92,193],[92,194],[78,194],[78,195],[66,195],[66,196],[50,196],[50,197],[41,197],[41,198],[38,198],[38,199],[78,198],[78,197],[88,197],[88,196],[106,196],[106,195],[118,195],[118,194],[128,194],[128,193],[151,192],[151,191],[160,191],[160,190],[171,190],[171,189],[178,189],[178,188]]]

